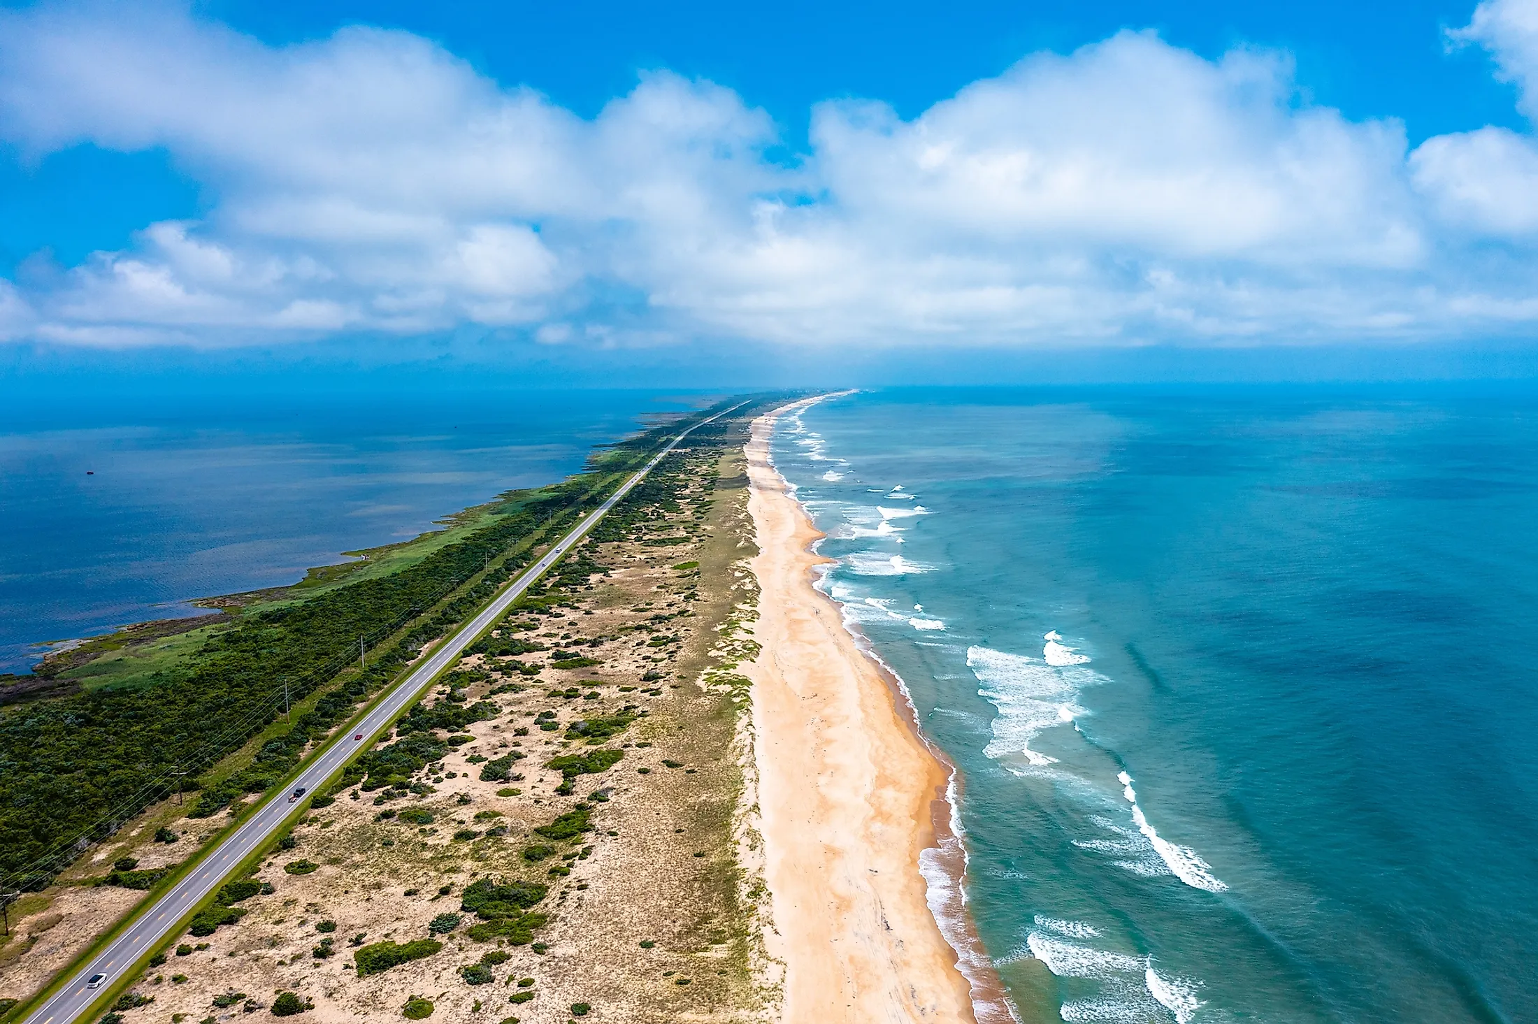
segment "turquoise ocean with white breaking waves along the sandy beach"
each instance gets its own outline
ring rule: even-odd
[[[861,392],[774,454],[1021,1019],[1538,1021],[1532,391]]]

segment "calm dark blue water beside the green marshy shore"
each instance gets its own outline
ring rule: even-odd
[[[560,480],[655,392],[92,392],[0,412],[0,670],[38,641],[194,613]],[[91,475],[88,475],[88,470]]]

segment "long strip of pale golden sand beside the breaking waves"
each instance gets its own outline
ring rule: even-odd
[[[774,415],[747,444],[761,587],[761,653],[747,672],[783,1019],[974,1021],[920,875],[947,770],[812,586],[821,534],[769,460]]]

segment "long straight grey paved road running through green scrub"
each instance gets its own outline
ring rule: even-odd
[[[294,792],[294,789],[303,786],[306,792],[314,792],[317,786],[323,784],[332,775],[332,772],[365,750],[375,733],[383,730],[384,726],[395,718],[395,715],[421,697],[421,692],[428,689],[434,677],[452,664],[460,652],[464,650],[464,647],[468,647],[488,626],[501,618],[508,607],[529,589],[531,583],[538,580],[546,569],[555,564],[555,561],[572,547],[572,544],[580,541],[588,530],[591,530],[594,524],[597,524],[598,520],[609,512],[609,509],[618,504],[620,500],[631,492],[631,487],[638,484],[641,478],[644,478],[646,474],[657,466],[657,463],[660,463],[678,446],[680,441],[689,437],[694,429],[724,417],[727,412],[740,409],[743,404],[746,403],[740,403],[731,409],[717,412],[714,417],[700,420],[700,423],[695,423],[687,431],[675,437],[667,447],[660,450],[649,463],[646,463],[646,466],[626,480],[608,501],[598,506],[598,509],[591,512],[581,523],[577,524],[577,527],[566,534],[566,537],[551,547],[543,558],[529,566],[521,575],[508,584],[508,589],[497,595],[497,598],[488,604],[484,610],[461,626],[448,643],[434,650],[432,655],[409,677],[406,677],[403,683],[398,683],[395,689],[384,697],[384,700],[375,704],[361,721],[354,723],[348,727],[346,733],[332,740],[331,744],[325,747],[321,755],[311,761],[311,764],[288,789],[269,796],[266,803],[261,804],[260,810],[248,818],[240,829],[220,841],[220,844],[215,846],[212,852],[197,866],[195,872],[178,881],[174,889],[155,899],[151,906],[140,909],[132,927],[112,939],[109,946],[97,953],[85,967],[75,972],[68,986],[55,992],[52,998],[26,1018],[26,1024],[66,1024],[68,1021],[77,1021],[86,1016],[86,1012],[91,1009],[91,1004],[95,1002],[97,996],[103,995],[117,981],[115,972],[132,967],[146,950],[157,949],[161,943],[165,943],[188,910],[195,907],[205,896],[225,884],[228,875],[235,870],[241,861],[255,853],[263,844],[268,843],[268,839],[274,836],[274,833],[277,833],[305,807],[303,800],[292,804],[289,803],[288,795]],[[352,738],[358,733],[363,735],[363,740]],[[103,987],[100,990],[86,989],[86,979],[97,973],[106,975]]]

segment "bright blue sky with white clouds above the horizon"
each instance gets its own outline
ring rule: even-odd
[[[1538,0],[827,8],[6,8],[0,369],[1526,366]]]

